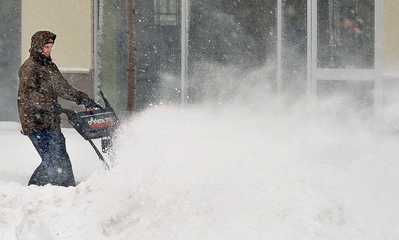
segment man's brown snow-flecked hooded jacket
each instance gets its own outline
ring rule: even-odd
[[[60,117],[50,113],[58,97],[82,104],[89,96],[68,84],[51,56],[43,54],[43,46],[54,42],[49,31],[33,34],[29,58],[19,68],[18,114],[24,134],[47,129],[60,130]],[[52,40],[52,41],[51,41]]]

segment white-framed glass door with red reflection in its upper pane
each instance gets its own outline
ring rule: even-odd
[[[336,90],[351,103],[380,104],[381,4],[380,0],[308,0],[312,96],[322,98]]]

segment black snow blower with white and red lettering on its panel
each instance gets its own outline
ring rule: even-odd
[[[94,148],[100,160],[106,169],[109,169],[108,163],[101,155],[100,151],[94,145],[92,139],[101,138],[101,148],[105,153],[110,150],[112,145],[112,137],[118,126],[118,118],[105,98],[103,92],[100,91],[101,97],[104,100],[105,108],[100,106],[99,109],[87,110],[84,112],[75,112],[70,109],[62,109],[62,113],[68,117],[68,122],[75,128],[77,132]]]

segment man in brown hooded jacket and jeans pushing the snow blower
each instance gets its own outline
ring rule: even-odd
[[[33,34],[29,58],[19,68],[18,113],[22,132],[41,157],[28,185],[75,186],[72,165],[61,133],[58,97],[97,107],[93,99],[74,89],[52,62],[50,53],[56,35],[49,31]]]

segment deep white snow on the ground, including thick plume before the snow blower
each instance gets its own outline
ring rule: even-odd
[[[39,156],[0,122],[0,239],[399,239],[399,136],[265,105],[153,107],[123,125],[109,171],[64,128],[68,188],[27,187]]]

